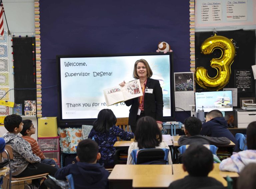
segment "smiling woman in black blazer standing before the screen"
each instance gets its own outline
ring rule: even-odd
[[[137,60],[134,64],[133,77],[140,80],[143,96],[125,101],[127,106],[131,105],[128,124],[132,132],[136,130],[136,121],[143,116],[153,117],[160,129],[163,121],[163,92],[158,80],[151,79],[153,72],[144,59]],[[125,81],[119,84],[125,85]]]

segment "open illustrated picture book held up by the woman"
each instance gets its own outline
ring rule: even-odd
[[[126,83],[124,87],[105,89],[103,93],[107,106],[143,95],[139,79]]]

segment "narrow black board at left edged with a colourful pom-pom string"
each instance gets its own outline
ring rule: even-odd
[[[35,37],[14,37],[13,66],[14,66],[14,102],[23,104],[24,100],[36,100],[35,53],[33,46]],[[35,49],[35,46],[34,46]],[[35,51],[35,50],[34,50]]]

